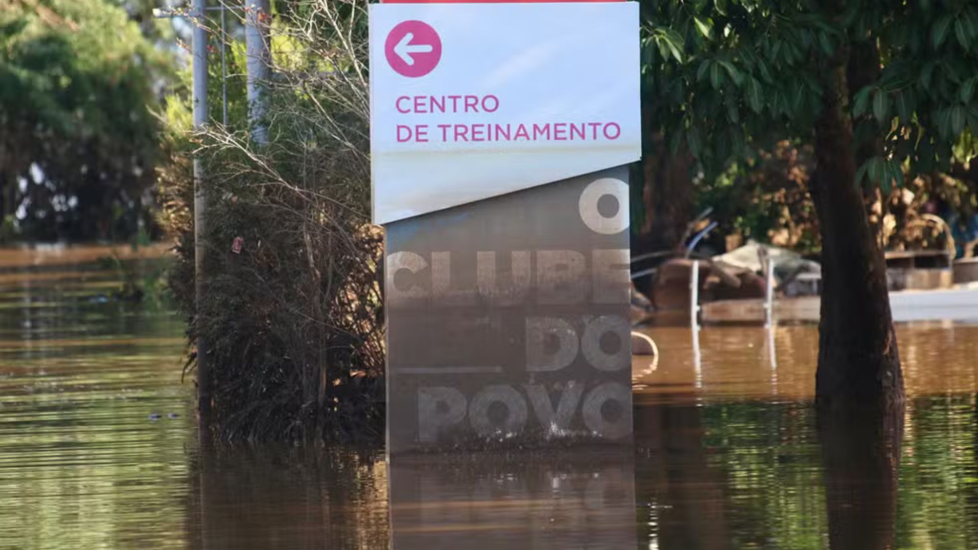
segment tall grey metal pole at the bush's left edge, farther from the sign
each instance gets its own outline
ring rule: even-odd
[[[207,0],[194,0],[193,17],[193,76],[194,76],[194,130],[200,131],[207,125],[207,31],[203,26]],[[206,202],[204,201],[203,166],[199,157],[194,158],[194,268],[195,299],[197,300],[197,322],[200,327],[201,297],[205,292],[204,220]],[[198,332],[197,340],[197,384],[198,408],[203,418],[210,411],[210,372],[207,365],[207,346]]]

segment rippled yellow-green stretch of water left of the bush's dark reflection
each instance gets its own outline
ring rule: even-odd
[[[64,254],[0,268],[0,548],[185,547],[182,319]]]

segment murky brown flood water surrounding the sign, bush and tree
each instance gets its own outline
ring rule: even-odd
[[[0,549],[978,547],[978,327],[901,326],[903,418],[822,429],[814,327],[653,328],[634,447],[387,464],[201,448],[183,320],[38,257],[0,252]]]

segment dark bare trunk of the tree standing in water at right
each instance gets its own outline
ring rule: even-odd
[[[904,381],[890,314],[883,254],[856,184],[847,102],[848,49],[823,70],[815,124],[812,198],[822,231],[822,321],[816,401],[820,406],[902,404]]]

